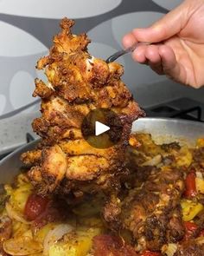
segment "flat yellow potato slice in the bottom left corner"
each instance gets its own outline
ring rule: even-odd
[[[3,242],[3,250],[10,255],[30,255],[41,253],[41,243],[26,237],[20,236]]]

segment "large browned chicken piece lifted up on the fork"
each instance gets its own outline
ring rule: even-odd
[[[79,195],[100,189],[108,194],[128,173],[124,152],[131,124],[144,113],[120,80],[123,67],[90,56],[90,40],[86,34],[73,35],[72,26],[72,20],[61,21],[49,56],[37,62],[48,77],[48,82],[35,80],[41,117],[32,125],[42,141],[37,150],[22,154],[22,161],[31,166],[29,179],[40,194]],[[92,148],[81,135],[82,121],[96,108],[112,109],[121,120],[121,141],[112,148]]]

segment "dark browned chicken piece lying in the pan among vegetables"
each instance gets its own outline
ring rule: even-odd
[[[113,198],[105,206],[105,220],[112,230],[131,233],[137,252],[159,251],[165,244],[182,240],[185,233],[179,205],[183,190],[180,170],[153,170],[123,200]]]

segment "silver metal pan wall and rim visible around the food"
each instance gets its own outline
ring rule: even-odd
[[[156,143],[179,141],[193,146],[196,139],[204,137],[204,123],[169,118],[141,118],[133,123],[132,132],[149,133]],[[22,167],[20,155],[35,148],[37,143],[38,141],[32,141],[0,161],[0,184],[13,181]]]

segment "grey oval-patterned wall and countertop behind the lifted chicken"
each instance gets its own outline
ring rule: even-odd
[[[75,19],[74,33],[88,33],[93,56],[106,58],[122,47],[125,33],[149,26],[179,3],[182,0],[0,0],[2,148],[10,147],[8,141],[18,145],[22,131],[31,130],[30,122],[40,107],[32,97],[34,79],[43,77],[35,70],[35,63],[47,55],[63,16]],[[133,62],[130,55],[118,62],[124,65],[124,82],[143,108],[183,97],[204,104],[204,89],[169,81]]]

